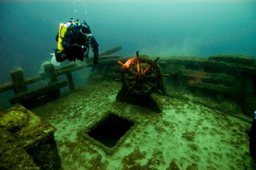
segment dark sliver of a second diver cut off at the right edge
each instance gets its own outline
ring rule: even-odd
[[[251,131],[246,130],[246,133],[250,137],[250,156],[256,161],[256,111],[254,112],[254,119],[251,123]]]

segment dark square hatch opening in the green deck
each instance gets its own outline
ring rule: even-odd
[[[133,122],[111,113],[102,123],[91,130],[89,135],[107,147],[114,147],[116,142],[119,141],[133,125]]]

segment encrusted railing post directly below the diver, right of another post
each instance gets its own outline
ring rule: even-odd
[[[44,73],[48,84],[58,82],[56,71],[51,63],[44,64]],[[48,94],[48,96],[51,96],[53,98],[60,96],[60,89],[51,92],[51,94]]]

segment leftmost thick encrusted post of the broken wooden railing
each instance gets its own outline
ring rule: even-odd
[[[28,91],[22,69],[10,71],[15,95]]]

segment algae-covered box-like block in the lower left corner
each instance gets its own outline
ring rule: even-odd
[[[22,105],[0,112],[0,169],[61,169],[56,128]]]

